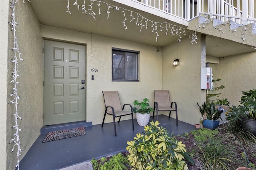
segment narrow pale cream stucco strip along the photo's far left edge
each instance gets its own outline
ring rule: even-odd
[[[8,0],[0,1],[0,166],[6,167],[6,111],[7,111],[7,55],[8,55]]]

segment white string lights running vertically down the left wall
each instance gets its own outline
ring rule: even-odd
[[[11,60],[14,63],[14,68],[12,71],[12,81],[10,82],[14,85],[14,87],[12,88],[13,93],[10,94],[10,97],[13,99],[9,103],[15,105],[15,113],[14,113],[15,125],[12,127],[14,129],[15,133],[13,134],[14,137],[10,140],[9,144],[14,143],[14,146],[12,147],[12,152],[14,151],[14,148],[17,147],[16,168],[19,170],[20,169],[19,156],[20,156],[20,152],[22,152],[22,150],[20,148],[20,136],[19,136],[19,132],[21,131],[21,129],[19,128],[19,125],[18,125],[18,119],[21,119],[21,117],[19,116],[19,113],[18,113],[18,104],[19,104],[18,100],[20,99],[20,96],[18,95],[18,88],[17,88],[17,85],[19,84],[18,77],[20,77],[20,73],[18,71],[18,61],[19,60],[24,61],[24,60],[21,58],[21,53],[20,53],[20,49],[18,48],[18,40],[17,40],[17,36],[16,36],[16,26],[18,25],[18,23],[16,22],[16,18],[15,18],[16,2],[18,2],[18,0],[12,0],[10,2],[10,8],[12,8],[12,21],[9,22],[9,24],[11,25],[11,31],[13,33],[13,38],[14,38],[14,47],[12,48],[12,50],[14,51],[14,57]],[[23,3],[24,3],[24,0],[23,0]]]

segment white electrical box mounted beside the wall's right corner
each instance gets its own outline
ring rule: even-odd
[[[212,89],[212,68],[211,67],[201,68],[201,89],[202,90]]]

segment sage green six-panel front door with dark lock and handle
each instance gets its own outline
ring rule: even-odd
[[[44,41],[44,125],[84,121],[84,45]]]

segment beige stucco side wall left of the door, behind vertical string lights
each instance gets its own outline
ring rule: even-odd
[[[8,8],[8,7],[7,7]],[[18,101],[18,113],[22,120],[18,120],[19,128],[22,129],[19,132],[20,144],[21,144],[21,158],[26,154],[30,146],[34,143],[36,138],[40,134],[40,128],[43,126],[43,42],[41,38],[41,28],[34,12],[30,6],[30,3],[25,1],[18,1],[15,4],[16,22],[16,37],[19,43],[19,49],[22,53],[21,57],[25,61],[19,61],[18,71],[21,77],[18,77],[18,95],[20,100]],[[11,14],[9,13],[9,16]],[[8,18],[11,20],[11,18]],[[7,23],[6,23],[7,24]],[[10,28],[10,27],[9,27]],[[1,30],[2,31],[2,30]],[[14,56],[13,48],[13,32],[8,29],[8,91],[7,95],[12,93],[14,85],[9,83],[12,79],[12,71],[14,63],[10,62]],[[2,37],[1,37],[2,38]],[[6,82],[6,81],[5,81]],[[2,89],[1,89],[2,91]],[[8,97],[10,101],[12,98]],[[4,102],[6,103],[6,101]],[[15,105],[8,104],[6,114],[6,141],[9,142],[14,136],[15,130],[12,126],[15,125],[14,113]],[[2,117],[1,117],[2,120]],[[17,164],[17,147],[15,147],[12,153],[13,143],[5,145],[7,148],[7,165],[6,169],[14,169]],[[1,160],[2,161],[2,160]],[[2,168],[2,165],[1,165]]]

